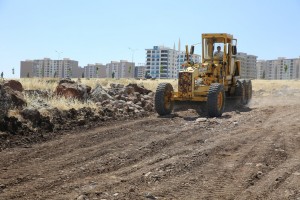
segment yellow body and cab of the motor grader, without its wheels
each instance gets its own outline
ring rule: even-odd
[[[174,101],[207,101],[212,83],[224,86],[226,96],[235,92],[237,79],[240,78],[240,61],[236,60],[237,40],[226,33],[202,34],[202,63],[194,63],[189,58],[186,46],[186,62],[179,72],[178,91],[173,92]],[[223,56],[214,56],[216,45],[223,45]],[[191,47],[193,54],[194,47]]]

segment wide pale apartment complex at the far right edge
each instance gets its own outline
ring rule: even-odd
[[[300,57],[279,57],[276,60],[259,60],[256,64],[257,78],[289,80],[300,78]]]

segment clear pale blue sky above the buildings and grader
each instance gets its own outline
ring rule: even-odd
[[[45,57],[145,63],[147,48],[221,32],[258,59],[297,58],[300,0],[0,0],[0,73],[17,78],[20,61]]]

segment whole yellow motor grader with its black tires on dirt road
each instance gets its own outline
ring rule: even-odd
[[[251,80],[241,79],[241,62],[236,59],[237,39],[227,33],[202,34],[202,63],[194,63],[186,45],[186,61],[179,71],[178,91],[170,83],[160,83],[155,94],[155,110],[161,116],[173,111],[178,101],[206,102],[209,117],[220,117],[225,98],[247,104],[252,97]],[[220,49],[223,47],[223,52]],[[216,49],[219,51],[216,52]]]

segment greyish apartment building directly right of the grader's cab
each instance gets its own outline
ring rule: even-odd
[[[256,79],[257,77],[257,68],[256,68],[256,59],[257,56],[248,55],[243,52],[238,52],[236,55],[237,60],[241,61],[241,77]]]

